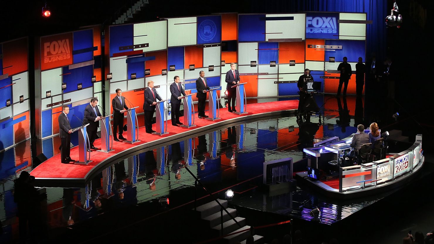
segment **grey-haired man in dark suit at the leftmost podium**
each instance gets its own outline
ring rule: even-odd
[[[60,157],[62,159],[62,163],[74,162],[74,159],[71,159],[69,153],[71,151],[71,124],[69,124],[68,119],[69,107],[66,105],[62,106],[62,113],[59,114],[59,134],[60,134]]]

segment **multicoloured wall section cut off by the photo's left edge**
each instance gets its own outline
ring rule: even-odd
[[[0,43],[0,151],[30,138],[27,38]]]

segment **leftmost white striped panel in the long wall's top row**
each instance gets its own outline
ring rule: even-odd
[[[148,47],[136,48],[143,52],[167,48],[167,20],[134,24],[134,45],[149,43]]]

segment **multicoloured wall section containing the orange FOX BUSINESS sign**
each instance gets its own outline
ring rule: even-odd
[[[81,126],[90,98],[102,104],[101,31],[99,26],[53,36],[43,36],[36,44],[39,66],[35,72],[36,136],[39,139],[59,133],[62,105],[69,106],[71,127]],[[74,118],[74,116],[78,118]],[[71,142],[77,145],[78,134]],[[60,140],[44,140],[46,151],[58,149]],[[43,151],[44,151],[43,148]]]

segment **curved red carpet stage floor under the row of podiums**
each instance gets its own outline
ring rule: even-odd
[[[155,142],[157,140],[161,140],[167,137],[173,137],[174,135],[186,133],[187,131],[198,130],[199,128],[203,128],[205,126],[209,126],[215,124],[215,127],[220,126],[222,121],[233,120],[233,119],[241,119],[236,120],[234,122],[243,121],[249,119],[249,116],[255,114],[263,114],[269,112],[277,112],[277,111],[289,111],[295,110],[298,106],[298,100],[290,100],[290,101],[275,101],[275,102],[266,102],[266,103],[258,103],[258,104],[249,104],[247,107],[248,114],[233,114],[227,111],[226,108],[220,109],[220,120],[211,121],[204,120],[195,117],[196,127],[184,128],[184,127],[174,127],[171,125],[171,121],[168,121],[168,134],[164,134],[162,136],[148,134],[145,133],[145,127],[139,128],[138,132],[138,140],[140,142],[130,144],[125,142],[116,142],[113,141],[113,149],[114,151],[110,153],[103,152],[95,152],[92,150],[91,160],[92,162],[88,165],[74,165],[73,163],[63,164],[60,163],[60,153],[53,156],[52,158],[47,159],[45,162],[41,163],[37,166],[30,175],[35,176],[36,180],[49,180],[49,179],[57,179],[57,180],[66,180],[66,179],[87,179],[92,170],[96,169],[99,164],[105,161],[105,159],[109,159],[110,157],[115,156],[118,153],[121,153],[125,150],[131,149],[133,147],[137,147],[138,145],[144,145],[146,143]],[[197,114],[195,114],[197,116]],[[181,121],[184,121],[184,118],[181,117]],[[155,127],[155,124],[154,124]],[[155,129],[155,128],[154,128]],[[210,127],[209,129],[212,129]],[[187,133],[186,133],[187,135]],[[95,140],[94,146],[101,148],[101,140]],[[78,160],[79,159],[79,150],[78,146],[75,146],[71,149],[71,158]]]

